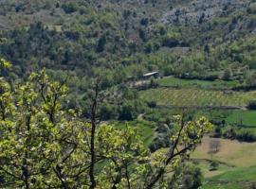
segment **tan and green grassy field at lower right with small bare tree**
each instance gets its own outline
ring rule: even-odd
[[[219,141],[220,150],[212,160],[220,163],[218,170],[210,171],[210,142]],[[240,143],[227,139],[205,137],[192,154],[206,178],[204,189],[247,188],[256,181],[256,143]]]

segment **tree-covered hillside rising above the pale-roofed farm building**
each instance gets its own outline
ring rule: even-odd
[[[1,55],[18,65],[17,74],[43,66],[86,72],[93,65],[119,70],[122,79],[152,70],[207,75],[202,70],[243,61],[243,50],[233,48],[250,42],[256,26],[249,1],[34,0],[1,7]],[[222,52],[227,45],[230,54]],[[248,53],[253,60],[253,47]]]

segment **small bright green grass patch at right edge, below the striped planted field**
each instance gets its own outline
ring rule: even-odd
[[[226,118],[226,122],[231,125],[256,127],[256,111],[233,111]]]

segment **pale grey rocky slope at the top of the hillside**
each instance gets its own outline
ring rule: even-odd
[[[160,23],[198,25],[233,9],[247,9],[247,4],[247,0],[193,0],[187,5],[176,7],[165,13]]]

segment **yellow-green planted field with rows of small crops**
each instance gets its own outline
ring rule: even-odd
[[[157,88],[142,91],[140,97],[155,101],[160,106],[243,108],[256,98],[256,92],[225,93],[202,89]]]

